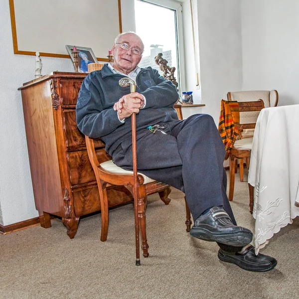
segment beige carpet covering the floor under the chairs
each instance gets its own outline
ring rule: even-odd
[[[253,230],[247,182],[237,177],[232,207],[240,225]],[[133,205],[110,211],[108,240],[100,241],[100,214],[80,221],[70,240],[59,219],[0,235],[0,299],[275,299],[299,298],[299,219],[261,252],[276,269],[246,272],[217,258],[218,246],[185,231],[183,193],[165,206],[149,197],[149,258],[135,266]]]

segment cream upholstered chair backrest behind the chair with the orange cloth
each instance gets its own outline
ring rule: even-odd
[[[276,90],[252,90],[252,91],[237,91],[228,92],[228,101],[237,102],[252,102],[262,99],[265,108],[275,107],[278,103],[278,92]],[[240,114],[240,123],[256,123],[259,113],[255,111],[244,112]]]

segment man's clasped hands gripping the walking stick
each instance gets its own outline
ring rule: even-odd
[[[125,95],[114,104],[113,109],[118,112],[119,119],[123,120],[139,110],[145,105],[144,96],[138,92]]]

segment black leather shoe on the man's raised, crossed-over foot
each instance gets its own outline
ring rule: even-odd
[[[206,214],[199,216],[194,221],[190,235],[205,241],[241,247],[252,240],[252,232],[234,225],[221,207],[212,207]]]

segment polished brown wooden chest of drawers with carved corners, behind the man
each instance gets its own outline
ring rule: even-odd
[[[76,125],[76,101],[85,76],[53,72],[19,88],[40,225],[51,227],[50,214],[59,216],[70,238],[80,216],[101,209],[85,138]],[[96,146],[100,162],[111,159],[101,140]],[[111,188],[108,198],[109,206],[132,200],[124,187]]]

